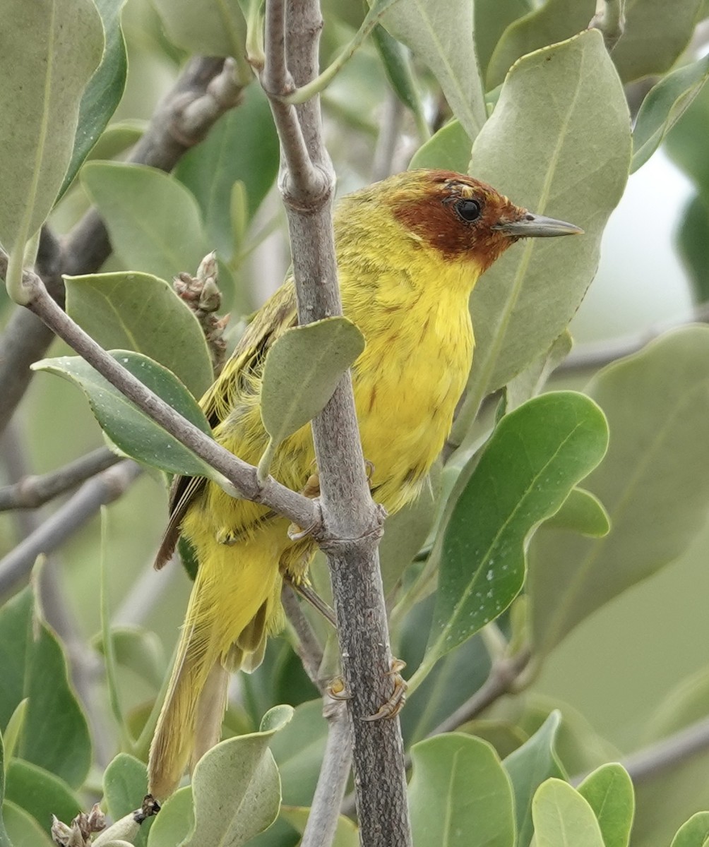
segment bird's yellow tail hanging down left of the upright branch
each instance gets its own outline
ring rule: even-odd
[[[240,551],[241,552],[241,551]],[[223,569],[214,559],[223,558]],[[240,556],[241,559],[241,556]],[[280,618],[278,567],[258,568],[258,584],[246,579],[234,551],[220,545],[208,567],[203,562],[192,588],[168,693],[148,761],[149,791],[172,794],[189,764],[219,741],[231,671],[252,671],[261,663],[266,636]],[[235,572],[239,573],[238,588]],[[270,579],[269,579],[270,578]],[[233,590],[231,590],[233,587]]]

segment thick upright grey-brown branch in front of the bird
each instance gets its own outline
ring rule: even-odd
[[[322,140],[318,98],[294,108],[283,97],[294,84],[306,85],[317,75],[322,18],[317,0],[291,0],[287,8],[284,0],[269,0],[266,22],[262,83],[279,130],[280,190],[291,234],[298,318],[307,324],[342,313],[331,215],[335,177]],[[364,720],[391,697],[394,680],[377,552],[382,517],[368,490],[349,374],[313,421],[313,441],[324,526],[320,545],[330,565],[342,669],[352,695],[347,711],[360,838],[366,847],[406,847],[411,835],[399,722],[396,717]]]

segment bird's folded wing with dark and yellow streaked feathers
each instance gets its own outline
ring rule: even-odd
[[[221,374],[202,397],[199,405],[212,429],[229,415],[241,394],[260,384],[266,354],[274,340],[296,324],[296,291],[292,280],[288,280],[256,313]],[[155,567],[169,562],[180,538],[180,524],[206,484],[204,477],[174,477],[169,490],[169,522],[155,557]]]

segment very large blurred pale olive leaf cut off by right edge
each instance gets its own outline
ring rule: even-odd
[[[709,503],[709,329],[668,333],[604,368],[588,393],[612,432],[584,487],[611,518],[600,539],[543,527],[529,549],[530,622],[542,656],[580,621],[682,553]],[[639,413],[641,410],[641,413]]]

